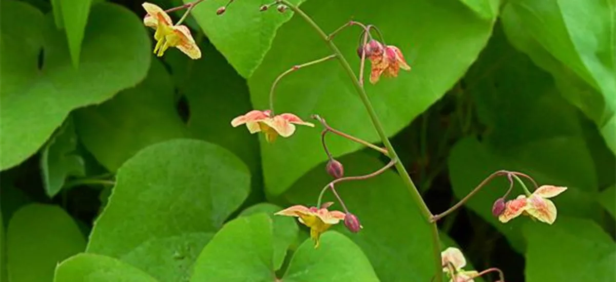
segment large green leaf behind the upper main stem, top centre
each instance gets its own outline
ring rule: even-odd
[[[400,47],[406,55],[412,71],[401,71],[397,79],[366,86],[387,135],[392,136],[458,81],[485,46],[492,22],[475,17],[459,1],[438,5],[429,0],[393,1],[387,3],[387,9],[378,7],[371,0],[308,1],[302,5],[326,32],[336,30],[350,17],[375,24],[383,31],[387,44]],[[354,68],[359,66],[359,33],[359,28],[352,26],[335,39]],[[269,108],[270,87],[280,73],[329,54],[331,51],[315,31],[302,18],[294,17],[278,30],[272,50],[248,79],[254,107]],[[318,113],[331,126],[349,134],[371,142],[380,140],[351,79],[338,62],[310,66],[286,76],[276,93],[278,113],[295,113],[301,118]],[[237,113],[241,114],[244,113]],[[245,128],[237,130],[248,136]],[[261,142],[265,187],[270,195],[280,195],[325,159],[319,131],[318,127],[301,127],[289,139],[281,138],[275,144]],[[328,139],[328,145],[336,156],[361,148],[341,138]],[[280,167],[285,167],[284,173],[280,173]]]

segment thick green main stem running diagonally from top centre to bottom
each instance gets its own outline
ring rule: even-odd
[[[355,76],[355,73],[353,72],[351,65],[349,65],[349,62],[347,62],[346,58],[342,56],[342,53],[338,49],[338,46],[336,46],[336,44],[334,44],[333,41],[328,40],[327,34],[325,34],[325,32],[320,28],[320,26],[318,26],[317,23],[315,23],[314,20],[312,20],[312,18],[310,18],[309,15],[304,13],[303,10],[299,9],[299,7],[291,4],[291,2],[287,0],[278,0],[278,1],[290,7],[290,9],[293,10],[293,12],[298,14],[300,17],[304,18],[304,20],[310,26],[312,26],[312,28],[321,36],[323,41],[326,42],[326,44],[330,47],[330,49],[334,52],[334,54],[338,55],[337,57],[338,61],[342,65],[342,68],[344,68],[344,70],[346,71],[349,78],[351,78],[353,86],[355,87],[355,90],[359,94],[359,97],[362,100],[363,105],[366,107],[366,110],[368,111],[368,115],[370,116],[372,124],[375,126],[376,132],[378,132],[379,137],[381,137],[381,141],[383,142],[383,144],[385,145],[385,148],[387,149],[387,152],[389,152],[389,157],[392,160],[396,160],[395,168],[398,171],[400,177],[402,177],[402,180],[405,183],[406,187],[408,188],[408,191],[411,194],[411,198],[413,199],[413,201],[415,201],[415,203],[419,207],[419,211],[421,211],[421,214],[423,215],[424,219],[426,219],[427,222],[430,222],[432,218],[432,213],[430,212],[430,209],[424,202],[423,198],[421,198],[421,194],[419,194],[417,187],[415,187],[415,183],[413,183],[413,180],[411,180],[411,177],[408,175],[408,172],[405,169],[404,165],[401,162],[397,161],[399,159],[398,155],[395,153],[394,147],[391,145],[391,142],[389,142],[389,139],[387,138],[387,134],[385,133],[383,124],[381,124],[381,121],[379,121],[378,116],[376,115],[376,111],[372,107],[372,104],[370,103],[370,99],[368,99],[368,95],[366,94],[365,89],[363,89],[362,84],[359,83],[359,80]],[[438,230],[436,227],[436,223],[433,222],[432,225],[433,225],[432,228],[436,230],[436,232],[432,232],[432,236],[433,236],[432,240],[434,241],[433,251],[434,251],[434,265],[436,266],[435,268],[436,281],[442,282],[443,273],[440,271],[441,259],[440,259],[440,249],[439,249],[440,248],[439,236],[438,236],[439,234],[438,234]]]

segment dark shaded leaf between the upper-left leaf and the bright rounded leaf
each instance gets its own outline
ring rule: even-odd
[[[110,171],[148,145],[188,136],[175,107],[171,78],[157,60],[136,87],[77,110],[75,126],[87,150]]]

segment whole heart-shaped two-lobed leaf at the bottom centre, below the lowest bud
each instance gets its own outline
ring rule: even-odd
[[[195,262],[192,282],[275,281],[272,220],[265,214],[226,224]],[[314,249],[306,240],[294,253],[282,281],[379,281],[362,250],[336,232],[325,233]]]

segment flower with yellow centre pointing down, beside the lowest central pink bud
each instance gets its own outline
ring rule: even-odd
[[[314,241],[314,248],[319,246],[319,238],[331,225],[344,220],[345,214],[341,211],[328,211],[325,207],[291,206],[276,212],[278,216],[298,217],[301,224],[310,227],[310,238]]]

